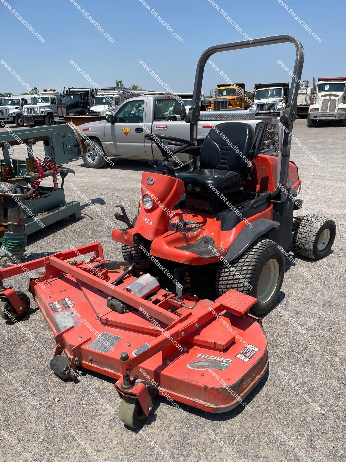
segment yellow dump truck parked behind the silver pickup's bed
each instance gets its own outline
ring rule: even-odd
[[[233,108],[247,109],[252,104],[251,91],[245,91],[245,84],[217,85],[210,110],[221,111]]]

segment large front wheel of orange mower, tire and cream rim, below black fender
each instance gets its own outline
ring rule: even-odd
[[[278,298],[285,274],[285,256],[270,239],[259,239],[231,262],[221,261],[216,271],[216,293],[229,289],[258,299],[250,312],[261,316]]]

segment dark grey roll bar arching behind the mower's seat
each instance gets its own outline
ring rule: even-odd
[[[303,64],[304,64],[304,48],[303,45],[292,35],[274,35],[269,37],[255,38],[250,42],[243,40],[240,42],[232,43],[221,43],[220,45],[214,45],[206,49],[199,61],[196,68],[195,84],[193,87],[192,105],[189,110],[189,114],[185,117],[185,122],[191,124],[190,128],[190,140],[197,144],[197,123],[201,115],[200,99],[202,91],[202,80],[204,73],[204,66],[210,56],[220,51],[231,51],[239,50],[243,48],[260,47],[264,45],[275,45],[276,43],[293,43],[296,47],[296,60],[294,62],[294,69],[292,75],[292,82],[290,92],[288,95],[288,101],[283,115],[280,117],[280,122],[284,130],[283,141],[282,141],[282,152],[278,156],[278,176],[277,184],[285,185],[287,182],[288,175],[288,164],[290,160],[291,152],[291,134],[293,122],[297,115],[297,96],[299,90],[298,81],[302,76]],[[281,191],[280,201],[285,200],[286,194]],[[275,191],[276,192],[276,191]]]

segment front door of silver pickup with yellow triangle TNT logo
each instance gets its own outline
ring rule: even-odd
[[[146,158],[144,147],[144,100],[129,99],[114,114],[115,123],[105,124],[105,143],[110,156]]]

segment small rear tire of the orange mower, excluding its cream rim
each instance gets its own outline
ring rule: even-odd
[[[330,231],[329,243],[322,251],[317,249],[317,242],[326,228]],[[299,223],[293,235],[293,250],[311,260],[324,258],[331,249],[336,234],[336,225],[320,215],[306,215]]]

